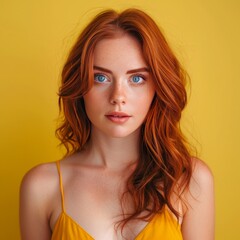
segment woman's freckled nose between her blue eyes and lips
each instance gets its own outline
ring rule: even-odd
[[[124,105],[126,103],[126,89],[123,83],[116,82],[113,84],[110,94],[110,103],[113,105]]]

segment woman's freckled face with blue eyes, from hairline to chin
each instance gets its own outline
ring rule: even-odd
[[[94,84],[84,96],[92,133],[114,138],[136,133],[155,93],[139,42],[128,34],[103,39],[93,62]]]

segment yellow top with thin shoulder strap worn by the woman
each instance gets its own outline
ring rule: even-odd
[[[65,212],[64,192],[59,162],[57,162],[57,169],[62,196],[62,213],[55,224],[51,240],[94,240],[89,233]],[[167,207],[164,207],[161,214],[156,214],[135,238],[135,240],[155,239],[183,240],[180,225]]]

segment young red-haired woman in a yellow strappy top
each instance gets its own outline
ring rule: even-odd
[[[213,177],[179,130],[186,74],[144,12],[97,15],[59,90],[67,156],[23,179],[23,240],[213,240]]]

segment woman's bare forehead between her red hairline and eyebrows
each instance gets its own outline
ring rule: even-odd
[[[125,63],[130,68],[131,66],[147,66],[143,57],[141,44],[135,37],[127,33],[100,40],[94,49],[93,58],[94,65]]]

